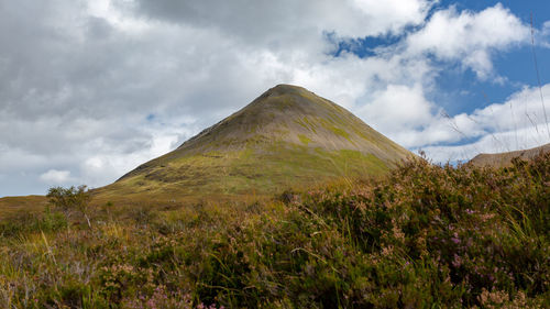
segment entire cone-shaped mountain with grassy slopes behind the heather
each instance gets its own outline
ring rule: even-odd
[[[100,200],[180,202],[272,195],[377,176],[411,156],[342,107],[278,85],[240,111],[96,190]]]

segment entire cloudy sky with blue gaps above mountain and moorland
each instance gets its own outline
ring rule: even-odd
[[[108,185],[277,84],[436,163],[529,148],[549,68],[542,0],[0,0],[0,197]]]

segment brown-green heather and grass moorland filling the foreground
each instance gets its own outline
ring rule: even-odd
[[[0,222],[1,308],[548,308],[550,154],[404,163],[271,201],[87,207]],[[67,198],[69,197],[69,198]]]

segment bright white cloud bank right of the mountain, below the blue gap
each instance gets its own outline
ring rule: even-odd
[[[541,90],[543,98],[550,97],[550,84]],[[426,100],[421,91],[419,86],[391,85],[374,92],[358,114],[397,143],[426,150],[438,162],[550,143],[550,107],[542,103],[538,88],[525,87],[505,102],[453,117]],[[460,146],[446,145],[461,141]]]

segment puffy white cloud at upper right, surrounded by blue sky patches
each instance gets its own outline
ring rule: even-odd
[[[443,60],[462,60],[482,79],[493,74],[491,54],[529,38],[529,26],[501,3],[479,13],[450,8],[433,13],[426,26],[407,38],[413,54],[431,53]]]

